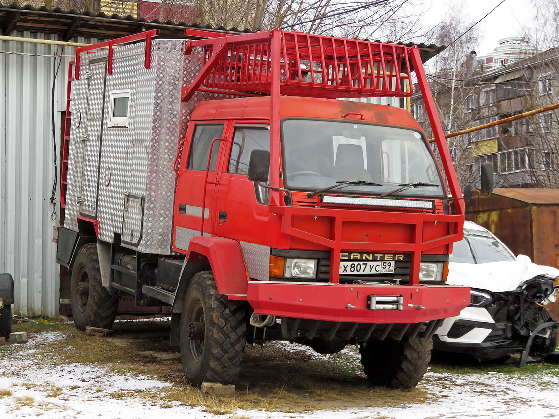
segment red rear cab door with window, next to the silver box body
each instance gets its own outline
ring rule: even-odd
[[[221,168],[219,156],[224,148],[221,139],[225,122],[197,122],[188,127],[186,145],[183,149],[181,168],[177,181],[174,204],[175,246],[188,250],[193,236],[211,233],[210,214],[214,207],[217,173]],[[214,146],[211,147],[212,142]],[[210,148],[211,157],[210,157]],[[210,169],[206,168],[210,161]]]

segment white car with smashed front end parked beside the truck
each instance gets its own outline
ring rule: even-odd
[[[544,306],[555,301],[559,270],[534,264],[528,256],[515,257],[491,232],[470,221],[449,260],[447,284],[470,287],[471,302],[437,329],[435,349],[480,361],[519,356],[528,342],[524,359],[542,359],[555,350],[556,324]]]

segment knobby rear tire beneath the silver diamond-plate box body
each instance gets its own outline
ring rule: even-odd
[[[87,296],[78,294],[80,282],[89,283]],[[70,280],[70,301],[74,324],[79,330],[86,330],[86,326],[110,328],[115,321],[119,297],[102,285],[95,243],[86,244],[78,251]]]

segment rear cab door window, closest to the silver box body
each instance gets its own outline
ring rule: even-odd
[[[210,155],[211,142],[216,138],[221,138],[223,132],[223,124],[197,124],[192,135],[192,144],[190,153],[188,153],[187,169],[206,170],[208,157]],[[216,141],[212,149],[210,171],[215,171],[217,154],[219,153],[219,145],[221,141]]]

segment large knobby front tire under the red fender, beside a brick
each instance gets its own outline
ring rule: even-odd
[[[202,339],[189,338],[191,323],[198,325],[198,333],[203,331],[203,336],[194,337]],[[243,361],[245,331],[243,302],[217,293],[211,272],[194,275],[181,317],[182,366],[187,380],[197,387],[204,382],[233,383]]]

